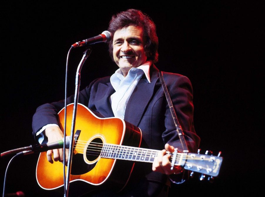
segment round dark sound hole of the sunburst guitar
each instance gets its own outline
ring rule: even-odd
[[[86,158],[88,161],[94,161],[96,160],[102,150],[103,147],[103,141],[100,138],[93,139],[90,144],[87,147],[86,150]]]

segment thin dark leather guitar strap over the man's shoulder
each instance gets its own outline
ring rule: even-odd
[[[174,109],[172,100],[170,98],[170,94],[169,94],[169,92],[167,90],[167,86],[166,86],[166,83],[165,83],[165,80],[164,80],[163,72],[162,71],[159,71],[159,78],[160,78],[160,81],[162,83],[163,90],[164,90],[165,95],[166,95],[166,98],[167,98],[167,103],[168,103],[168,106],[169,106],[169,109],[170,109],[170,112],[171,112],[171,115],[172,115],[174,124],[176,126],[177,134],[178,134],[178,136],[180,138],[180,143],[182,145],[183,152],[184,153],[185,152],[187,153],[188,152],[188,148],[187,148],[187,143],[186,143],[185,138],[184,138],[184,133],[183,133],[182,128],[180,126],[180,123],[179,123],[179,121],[177,119],[177,114],[175,112],[175,109]]]

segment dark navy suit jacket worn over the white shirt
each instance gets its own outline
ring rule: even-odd
[[[164,72],[163,76],[185,133],[189,151],[197,152],[200,139],[193,125],[192,85],[187,77],[179,74]],[[158,69],[154,65],[150,67],[150,81],[151,83],[143,76],[138,82],[128,101],[124,119],[142,130],[144,148],[162,150],[165,143],[169,143],[181,150],[175,124],[159,80]],[[88,106],[104,117],[114,117],[109,99],[114,92],[110,77],[99,78],[80,91],[78,103]],[[73,101],[74,95],[67,99],[68,104]],[[58,124],[57,114],[63,107],[64,101],[38,107],[33,116],[33,135],[35,136],[36,132],[46,124]],[[152,172],[151,165],[148,168],[144,172],[148,180],[166,181],[165,175]]]

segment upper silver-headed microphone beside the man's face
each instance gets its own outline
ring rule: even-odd
[[[85,45],[91,45],[98,42],[109,42],[111,40],[112,34],[109,31],[103,31],[100,35],[97,35],[92,38],[85,39],[83,41],[76,42],[72,44],[72,47],[82,47]]]

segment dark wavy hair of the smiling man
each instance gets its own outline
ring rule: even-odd
[[[110,20],[108,31],[114,35],[117,30],[126,28],[130,25],[138,26],[143,29],[144,36],[146,37],[145,54],[147,60],[156,63],[158,61],[158,38],[156,34],[156,26],[153,20],[140,10],[128,9],[126,11],[117,13],[112,16]],[[113,36],[108,43],[110,57],[113,59]]]

